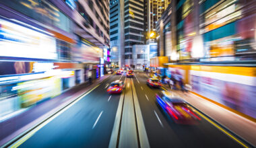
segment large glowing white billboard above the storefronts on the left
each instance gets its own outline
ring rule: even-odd
[[[55,38],[0,20],[0,57],[57,59]]]

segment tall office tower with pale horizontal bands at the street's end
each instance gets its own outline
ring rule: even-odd
[[[112,62],[133,66],[133,45],[143,44],[143,0],[110,1],[110,46]]]

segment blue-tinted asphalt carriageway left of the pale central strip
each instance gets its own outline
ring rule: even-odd
[[[120,78],[116,75],[101,83],[20,147],[108,147],[120,96],[108,100],[105,87]]]

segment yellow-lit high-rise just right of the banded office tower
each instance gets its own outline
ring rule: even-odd
[[[149,39],[151,39],[150,42],[156,42],[156,36],[151,38],[149,36],[152,32],[156,34],[156,24],[170,4],[170,0],[144,0],[144,3],[146,3],[145,10],[147,11],[144,24],[146,42],[149,43]]]

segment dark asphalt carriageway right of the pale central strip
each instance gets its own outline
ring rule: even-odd
[[[140,90],[137,97],[150,147],[241,147],[204,118],[195,125],[175,124],[156,105],[156,93],[162,89],[148,87],[144,73],[136,73],[136,77],[135,89]]]

